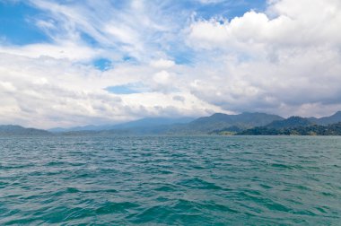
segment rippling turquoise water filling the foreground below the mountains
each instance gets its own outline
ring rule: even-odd
[[[0,224],[341,225],[341,137],[2,137]]]

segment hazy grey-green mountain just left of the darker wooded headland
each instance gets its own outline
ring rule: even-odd
[[[265,126],[275,120],[283,120],[283,117],[266,113],[245,112],[240,115],[227,115],[215,113],[210,117],[199,117],[187,125],[173,127],[171,133],[182,134],[210,134],[217,131],[236,132],[254,126]]]

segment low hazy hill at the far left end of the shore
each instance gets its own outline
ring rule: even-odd
[[[51,135],[48,131],[22,126],[0,126],[0,135]]]

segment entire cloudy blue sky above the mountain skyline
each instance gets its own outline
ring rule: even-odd
[[[0,124],[341,110],[339,0],[0,0]]]

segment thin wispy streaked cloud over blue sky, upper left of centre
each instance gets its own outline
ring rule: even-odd
[[[48,12],[48,19],[37,19],[37,25],[57,43],[68,39],[83,44],[86,34],[96,46],[107,49],[106,57],[114,60],[129,56],[148,61],[161,32],[170,30],[170,18],[165,18],[153,3],[132,1],[118,8],[109,0],[88,1],[86,4],[31,0],[31,4]]]

